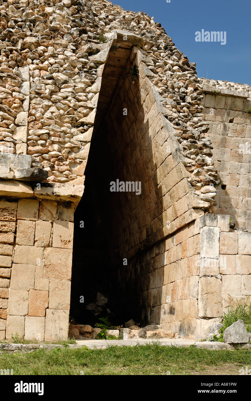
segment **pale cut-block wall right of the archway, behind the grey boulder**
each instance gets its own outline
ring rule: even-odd
[[[200,261],[196,337],[205,338],[210,324],[227,306],[251,295],[251,233],[229,232],[228,215],[200,218]]]

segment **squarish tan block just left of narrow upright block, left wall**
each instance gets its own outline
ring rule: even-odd
[[[13,290],[31,290],[34,288],[35,269],[33,265],[20,265],[13,263],[10,288]]]

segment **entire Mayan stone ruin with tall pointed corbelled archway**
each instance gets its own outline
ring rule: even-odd
[[[251,295],[251,87],[107,0],[0,0],[0,52],[0,338],[65,339],[97,292],[205,338]]]

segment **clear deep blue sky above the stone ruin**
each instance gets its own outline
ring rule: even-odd
[[[113,0],[160,22],[199,77],[251,85],[250,0]],[[226,31],[226,44],[196,42],[195,32]]]

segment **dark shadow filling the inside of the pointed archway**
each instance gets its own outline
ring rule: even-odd
[[[75,211],[70,315],[79,324],[93,325],[100,316],[114,325],[130,319],[160,323],[164,241],[152,246],[146,241],[162,229],[164,205],[144,82],[122,75],[107,115],[94,125],[85,191]],[[86,309],[95,304],[97,292],[107,304]]]

